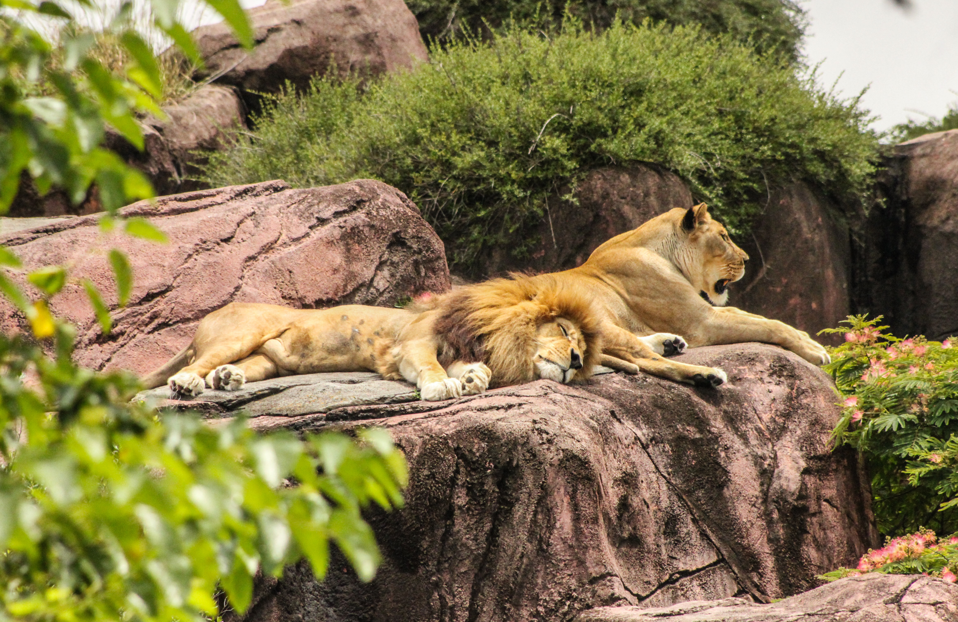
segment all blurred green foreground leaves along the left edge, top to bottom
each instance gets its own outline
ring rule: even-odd
[[[177,4],[152,0],[155,22],[195,58]],[[210,4],[249,45],[238,1]],[[93,35],[64,29],[57,60],[20,19],[56,15],[69,25],[58,4],[0,0],[0,213],[25,169],[41,190],[57,184],[74,200],[95,181],[108,210],[104,229],[122,220],[121,205],[152,196],[140,173],[100,148],[104,123],[142,146],[134,113],[155,111],[160,92],[158,66],[129,28],[128,10],[111,23],[130,58],[117,76],[91,56]],[[41,84],[55,89],[36,96]],[[165,241],[144,219],[127,220],[125,231]],[[130,265],[119,250],[107,257],[123,305]],[[360,431],[356,442],[332,433],[258,436],[241,419],[213,427],[130,403],[135,378],[71,360],[75,331],[47,305],[67,270],[34,270],[28,293],[11,279],[19,267],[0,246],[0,292],[33,329],[31,338],[0,334],[0,620],[209,620],[220,589],[245,610],[259,571],[276,576],[306,558],[322,577],[330,541],[360,578],[373,576],[378,551],[360,510],[398,506],[406,482],[404,459],[383,430]],[[109,332],[103,297],[82,283]],[[39,345],[45,339],[50,355]]]

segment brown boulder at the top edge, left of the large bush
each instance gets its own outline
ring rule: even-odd
[[[428,58],[419,25],[402,0],[269,0],[250,9],[256,47],[247,53],[225,23],[193,35],[206,62],[202,76],[243,91],[308,86],[334,65],[340,75],[376,75]]]

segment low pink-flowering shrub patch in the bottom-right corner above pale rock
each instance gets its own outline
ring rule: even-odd
[[[939,541],[935,532],[919,529],[918,532],[901,538],[889,539],[877,551],[868,549],[855,568],[838,568],[818,575],[819,579],[835,581],[855,577],[866,572],[885,574],[928,574],[954,583],[958,577],[958,537]]]

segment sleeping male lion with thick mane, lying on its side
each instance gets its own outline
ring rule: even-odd
[[[423,400],[446,400],[537,378],[588,378],[602,352],[596,327],[588,297],[548,277],[458,288],[411,310],[230,303],[144,384],[198,395],[206,386],[235,391],[277,376],[369,370],[415,382]],[[673,334],[646,342],[685,347]]]

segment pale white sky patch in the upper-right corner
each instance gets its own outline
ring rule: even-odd
[[[809,64],[820,81],[854,96],[887,129],[922,113],[941,117],[958,102],[958,0],[802,0],[809,12]],[[844,73],[843,73],[844,72]],[[840,78],[839,78],[840,76]]]

